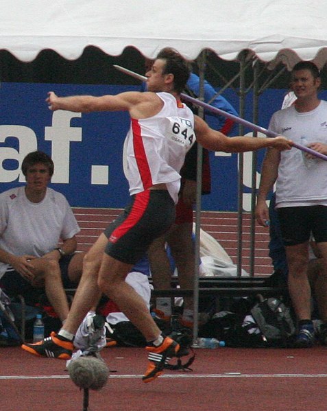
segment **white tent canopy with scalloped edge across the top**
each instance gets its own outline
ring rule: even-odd
[[[162,47],[194,60],[203,49],[234,60],[245,49],[265,62],[327,56],[325,1],[0,0],[0,49],[34,60],[53,49],[74,60],[85,47],[117,56],[128,46],[154,58]]]

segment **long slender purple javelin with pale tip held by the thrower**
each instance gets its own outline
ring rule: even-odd
[[[141,80],[143,82],[147,81],[147,77],[145,77],[145,75],[141,75],[141,74],[135,73],[132,70],[125,69],[125,67],[121,67],[121,66],[118,66],[117,64],[114,64],[114,68],[121,71],[122,73],[131,75],[132,77],[134,77],[138,80]],[[195,104],[196,106],[206,108],[206,110],[212,111],[213,113],[222,115],[223,117],[228,117],[229,119],[232,119],[233,121],[235,121],[235,123],[242,124],[245,127],[251,128],[251,130],[262,132],[267,137],[277,137],[278,135],[280,135],[280,134],[277,134],[274,131],[267,130],[266,128],[263,128],[261,126],[257,126],[256,124],[253,124],[250,121],[247,121],[245,119],[241,119],[241,117],[238,117],[238,116],[233,115],[231,113],[227,113],[226,111],[223,111],[220,108],[210,106],[210,104],[204,103],[204,102],[200,101],[199,99],[195,99],[193,97],[190,97],[187,94],[182,93],[180,95],[180,97],[182,97],[183,100],[186,100],[186,102],[191,102],[191,103]],[[324,154],[319,153],[315,150],[312,150],[312,148],[305,147],[305,145],[300,145],[298,143],[293,143],[293,147],[298,148],[299,150],[302,150],[304,152],[312,154],[315,157],[319,157],[319,158],[322,158],[323,160],[327,161],[327,156],[325,156]]]

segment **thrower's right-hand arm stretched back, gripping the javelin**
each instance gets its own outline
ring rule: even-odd
[[[223,152],[247,152],[261,148],[273,147],[278,150],[290,150],[293,146],[291,140],[284,137],[262,138],[262,137],[227,137],[219,131],[213,130],[200,117],[195,117],[195,135],[197,141],[212,151]]]

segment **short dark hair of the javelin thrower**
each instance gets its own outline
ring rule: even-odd
[[[166,64],[162,74],[173,74],[173,87],[177,93],[182,93],[189,80],[190,69],[186,60],[174,49],[165,47],[159,51],[157,59],[165,60]]]

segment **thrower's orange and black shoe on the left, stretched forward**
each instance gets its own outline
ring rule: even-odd
[[[73,342],[62,340],[61,337],[52,331],[50,337],[36,344],[23,344],[21,348],[38,357],[60,358],[60,360],[70,360],[73,353]]]

